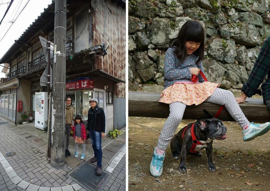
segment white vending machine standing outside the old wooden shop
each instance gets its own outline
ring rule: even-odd
[[[44,130],[48,120],[48,92],[36,92],[35,127]]]

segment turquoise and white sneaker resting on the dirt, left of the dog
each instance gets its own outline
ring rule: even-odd
[[[163,160],[165,157],[165,152],[163,156],[160,156],[156,153],[156,148],[154,150],[153,158],[150,164],[150,172],[154,177],[159,177],[163,171]]]

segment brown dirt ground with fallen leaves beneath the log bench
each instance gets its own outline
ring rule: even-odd
[[[208,171],[207,156],[187,156],[187,173],[178,171],[180,160],[166,150],[163,173],[155,178],[149,164],[166,119],[129,117],[129,190],[270,190],[270,132],[244,142],[236,122],[223,122],[228,137],[214,141],[216,172]],[[176,132],[194,120],[182,120]]]

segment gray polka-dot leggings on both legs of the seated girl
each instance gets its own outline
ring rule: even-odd
[[[236,103],[234,95],[228,90],[217,88],[214,93],[208,97],[205,102],[225,105],[225,108],[230,113],[232,118],[241,126],[249,124],[249,121],[243,114],[239,105]],[[158,138],[158,148],[166,150],[169,141],[173,137],[175,130],[180,124],[186,105],[182,102],[173,102],[170,104],[170,115],[165,122],[160,136]]]

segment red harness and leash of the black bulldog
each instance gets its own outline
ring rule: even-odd
[[[208,82],[207,78],[205,77],[204,73],[202,71],[200,71],[201,77],[204,78],[204,80],[206,82]],[[192,82],[197,82],[199,80],[198,76],[196,75],[192,75],[191,77],[191,81]],[[214,116],[214,118],[217,118],[219,116],[219,114],[221,113],[222,109],[224,108],[224,105],[221,105],[221,107],[219,108],[219,110],[217,111],[217,114]],[[189,150],[189,152],[191,153],[197,153],[199,151],[195,151],[196,145],[203,145],[203,143],[201,143],[200,141],[197,140],[196,135],[194,133],[194,124],[192,124],[191,126],[191,137],[192,137],[192,146],[191,149]],[[186,129],[188,128],[188,126],[186,126],[186,128],[184,129],[183,133],[182,133],[182,139],[184,139],[184,134]]]

